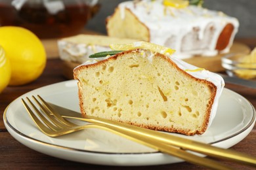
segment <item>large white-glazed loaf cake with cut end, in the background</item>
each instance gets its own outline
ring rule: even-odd
[[[239,26],[236,18],[197,5],[171,7],[164,1],[120,3],[106,19],[108,35],[167,46],[179,58],[215,56],[230,50]]]

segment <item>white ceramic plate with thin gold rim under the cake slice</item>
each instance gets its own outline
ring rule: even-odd
[[[75,80],[45,86],[14,100],[5,110],[5,126],[16,140],[33,150],[65,160],[99,165],[160,165],[182,161],[100,129],[47,137],[37,129],[20,100],[37,94],[46,101],[79,111]],[[238,93],[224,89],[215,120],[207,131],[203,135],[180,136],[229,148],[242,141],[254,124],[255,109],[251,103]]]

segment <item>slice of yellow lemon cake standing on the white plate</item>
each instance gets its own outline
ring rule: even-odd
[[[205,132],[224,87],[215,73],[142,48],[87,61],[74,78],[82,114],[184,135]]]

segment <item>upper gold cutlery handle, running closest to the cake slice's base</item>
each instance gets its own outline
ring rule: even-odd
[[[64,116],[66,118],[75,118],[70,116]],[[222,158],[225,160],[232,160],[238,163],[246,163],[247,165],[252,165],[256,167],[256,158],[249,156],[247,154],[242,154],[240,152],[235,152],[233,150],[227,150],[223,148],[218,148],[211,146],[210,144],[200,143],[198,141],[192,141],[190,139],[184,139],[182,137],[177,137],[174,135],[167,135],[159,131],[153,131],[150,129],[145,129],[142,127],[132,126],[129,124],[123,124],[121,122],[114,122],[112,120],[106,120],[102,118],[95,118],[93,116],[85,115],[85,118],[75,118],[78,120],[83,120],[86,122],[105,124],[112,129],[123,129],[129,131],[130,134],[137,134],[138,136],[147,137],[147,140],[158,141],[158,143],[165,143],[171,146],[177,146],[184,150],[192,150],[194,152],[199,152],[208,156],[213,156],[216,158]]]

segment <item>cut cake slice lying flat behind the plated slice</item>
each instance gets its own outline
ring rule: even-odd
[[[110,44],[135,42],[134,39],[120,39],[104,35],[75,35],[58,40],[60,59],[74,63],[84,63],[91,54],[108,51]]]

